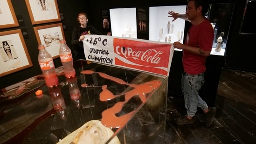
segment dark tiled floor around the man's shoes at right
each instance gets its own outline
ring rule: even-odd
[[[206,128],[201,110],[193,124],[177,125],[186,113],[183,99],[168,96],[165,144],[256,144],[256,73],[223,69],[213,124]]]

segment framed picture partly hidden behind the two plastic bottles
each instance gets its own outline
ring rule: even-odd
[[[34,27],[34,30],[38,45],[43,44],[54,59],[59,57],[59,40],[65,39],[62,23]]]

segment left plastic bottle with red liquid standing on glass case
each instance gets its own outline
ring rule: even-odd
[[[39,45],[39,54],[38,54],[38,62],[40,68],[42,70],[42,74],[45,77],[45,84],[48,87],[53,87],[54,85],[58,85],[59,80],[55,72],[55,66],[52,59],[52,56],[45,49],[44,45]]]

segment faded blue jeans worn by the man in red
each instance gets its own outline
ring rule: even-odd
[[[189,75],[183,73],[181,77],[181,90],[184,95],[187,115],[194,117],[197,107],[202,110],[208,109],[208,105],[199,96],[198,92],[204,84],[204,73],[198,75]]]

